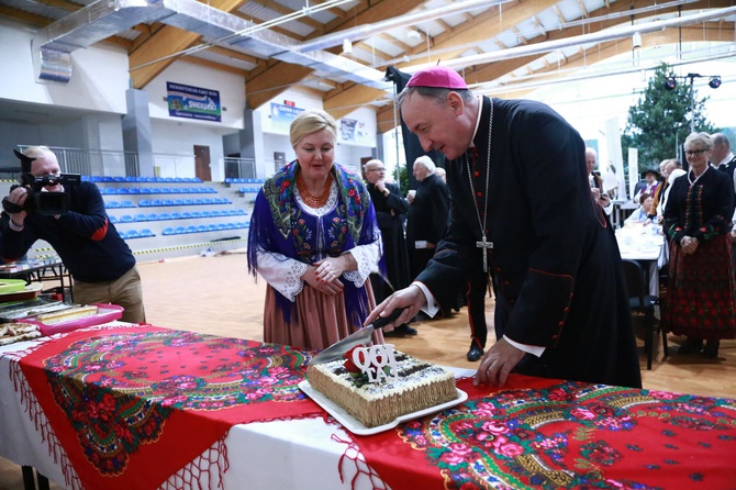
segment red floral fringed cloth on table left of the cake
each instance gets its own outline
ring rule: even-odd
[[[90,328],[24,355],[16,385],[37,425],[47,426],[49,449],[73,467],[67,485],[143,489],[216,446],[235,424],[321,416],[297,386],[304,360],[280,345],[149,325]],[[197,471],[226,469],[222,452]]]

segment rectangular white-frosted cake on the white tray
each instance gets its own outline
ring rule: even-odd
[[[365,374],[350,372],[349,360],[341,358],[310,366],[306,379],[366,427],[458,398],[453,372],[399,350],[394,356],[398,376],[393,378],[370,382]]]

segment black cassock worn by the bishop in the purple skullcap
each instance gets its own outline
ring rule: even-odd
[[[489,116],[484,97],[475,148],[446,165],[449,230],[417,277],[443,312],[470,271],[482,267],[470,178],[483,216]],[[538,102],[494,99],[488,198],[497,332],[546,347],[540,358],[526,355],[516,371],[640,387],[621,255],[591,198],[578,132]]]

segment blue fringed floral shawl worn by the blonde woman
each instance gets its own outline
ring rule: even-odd
[[[304,227],[301,209],[294,198],[299,168],[297,160],[287,164],[258,192],[248,234],[248,271],[254,276],[258,269],[259,248],[312,264],[321,258],[315,258],[320,255],[336,257],[357,245],[380,240],[376,211],[365,185],[355,174],[333,164],[332,174],[337,185],[338,200],[336,209],[330,214],[334,240],[326,244],[325,250],[314,250],[310,230]],[[386,268],[382,258],[379,268]],[[346,315],[359,327],[368,315],[366,290],[355,287],[350,281],[344,283]],[[295,314],[294,304],[278,291],[275,292],[283,319],[289,322],[291,315]]]

